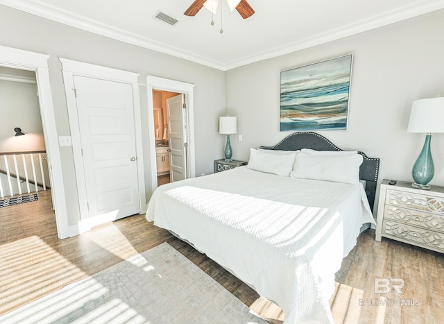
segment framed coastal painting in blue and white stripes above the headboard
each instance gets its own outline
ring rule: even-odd
[[[280,131],[346,130],[352,54],[280,73]]]

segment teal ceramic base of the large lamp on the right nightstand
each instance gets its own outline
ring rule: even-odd
[[[424,146],[411,170],[411,176],[413,177],[413,180],[415,180],[415,182],[411,184],[412,187],[418,189],[430,189],[429,182],[435,174],[432,152],[430,151],[431,140],[432,135],[425,135]]]

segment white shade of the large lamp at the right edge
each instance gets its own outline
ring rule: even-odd
[[[444,98],[413,101],[407,132],[444,133]]]

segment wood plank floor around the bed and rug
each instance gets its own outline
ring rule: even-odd
[[[60,240],[44,191],[39,201],[1,207],[0,219],[0,314],[166,241],[269,322],[282,323],[279,307],[144,215]],[[444,255],[374,237],[364,232],[336,273],[336,323],[444,323]],[[390,278],[404,280],[402,294],[375,294],[375,279]]]

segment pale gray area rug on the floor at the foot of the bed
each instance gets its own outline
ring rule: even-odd
[[[0,323],[261,323],[167,243],[0,317]]]

